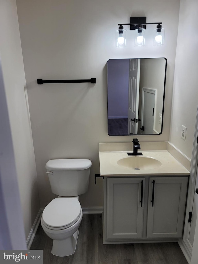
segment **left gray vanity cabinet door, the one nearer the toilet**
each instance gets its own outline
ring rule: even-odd
[[[144,178],[107,179],[107,238],[141,238]]]

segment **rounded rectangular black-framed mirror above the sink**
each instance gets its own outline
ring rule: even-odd
[[[166,58],[109,59],[108,134],[162,133]]]

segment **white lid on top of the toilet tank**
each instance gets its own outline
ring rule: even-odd
[[[89,159],[51,159],[49,160],[45,168],[51,171],[80,171],[88,169],[92,166],[92,162]]]

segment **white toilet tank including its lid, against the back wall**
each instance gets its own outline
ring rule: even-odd
[[[78,196],[86,193],[92,162],[89,159],[51,159],[45,168],[52,193],[59,196]]]

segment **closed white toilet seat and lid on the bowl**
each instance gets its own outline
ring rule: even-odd
[[[81,210],[78,199],[55,198],[43,210],[42,223],[49,229],[65,229],[79,219]]]

